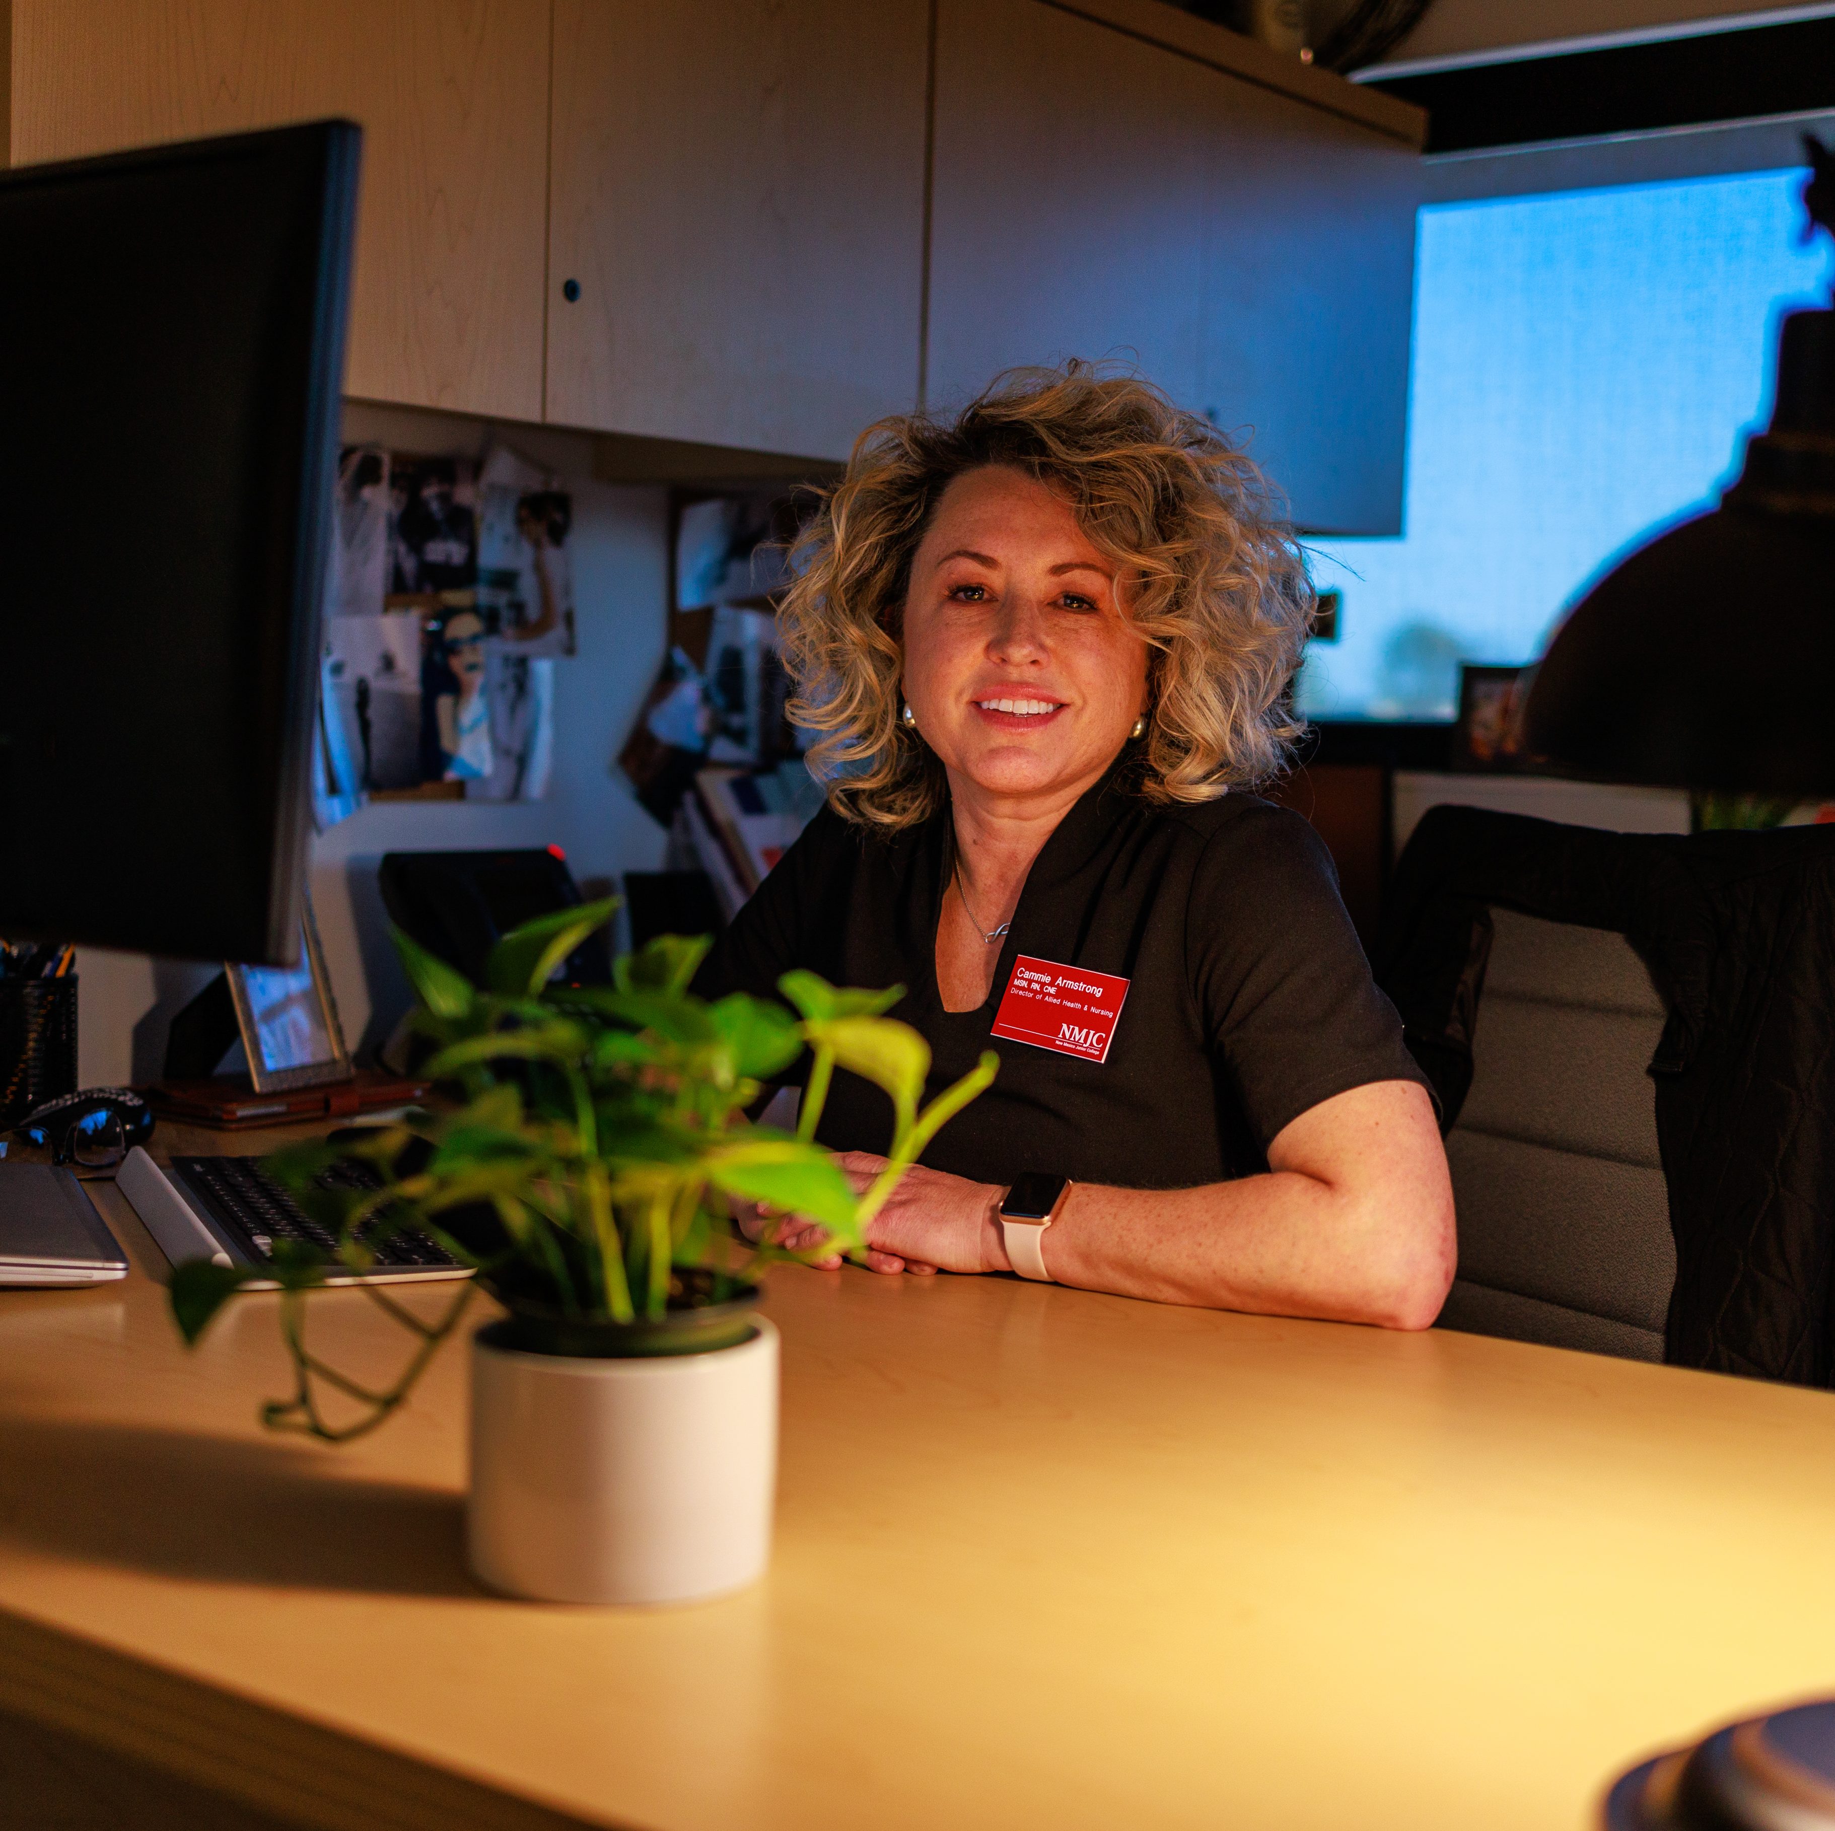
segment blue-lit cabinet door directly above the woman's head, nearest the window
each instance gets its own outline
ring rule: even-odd
[[[1040,0],[940,0],[927,400],[1134,361],[1314,530],[1402,514],[1418,158]]]

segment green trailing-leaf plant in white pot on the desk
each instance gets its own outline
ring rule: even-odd
[[[418,1229],[477,1268],[433,1321],[389,1288],[358,1286],[413,1347],[378,1391],[306,1343],[328,1262],[277,1242],[272,1270],[195,1260],[172,1273],[172,1315],[196,1341],[251,1277],[281,1286],[295,1389],[264,1422],[341,1442],[407,1398],[475,1290],[505,1315],[472,1341],[472,1569],[492,1589],[554,1602],[686,1602],[736,1589],[769,1556],[776,1470],[776,1334],[760,1273],[795,1257],[736,1238],[730,1202],[822,1222],[859,1251],[872,1215],[938,1128],[995,1075],[995,1055],[919,1110],[930,1049],[883,1013],[899,998],[789,972],[795,1015],[688,993],[706,941],[666,936],[615,965],[611,985],[550,983],[611,916],[595,903],[505,936],[473,987],[396,934],[435,1053],[457,1088],[360,1145],[306,1145],[270,1167],[336,1238],[347,1268]],[[747,1121],[762,1084],[807,1049],[795,1136]],[[859,1198],[815,1143],[835,1068],[881,1086],[892,1156]],[[367,1158],[376,1191],[323,1187],[334,1158]],[[815,1251],[831,1251],[817,1248]],[[354,1415],[334,1424],[327,1391]]]

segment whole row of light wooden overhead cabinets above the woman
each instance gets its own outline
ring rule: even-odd
[[[360,398],[635,435],[639,466],[831,461],[1004,367],[1119,356],[1251,429],[1303,527],[1400,527],[1422,117],[1163,0],[7,20],[15,163],[363,125]]]

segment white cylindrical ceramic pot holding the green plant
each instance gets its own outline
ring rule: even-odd
[[[472,1337],[466,1537],[536,1602],[695,1602],[771,1556],[778,1332],[710,1354],[585,1359]]]

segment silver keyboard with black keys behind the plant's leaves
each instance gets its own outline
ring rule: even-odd
[[[323,1189],[382,1187],[378,1171],[360,1158],[339,1158],[316,1182]],[[273,1262],[273,1248],[281,1240],[308,1246],[328,1262],[338,1249],[330,1229],[268,1174],[261,1158],[172,1158],[169,1165],[156,1165],[145,1152],[134,1150],[117,1187],[174,1264],[207,1257],[220,1264],[266,1266]],[[402,1282],[472,1273],[468,1264],[418,1227],[385,1237],[376,1237],[378,1231],[371,1222],[358,1233],[367,1246],[374,1246],[374,1264],[365,1271],[334,1264],[327,1282]]]

